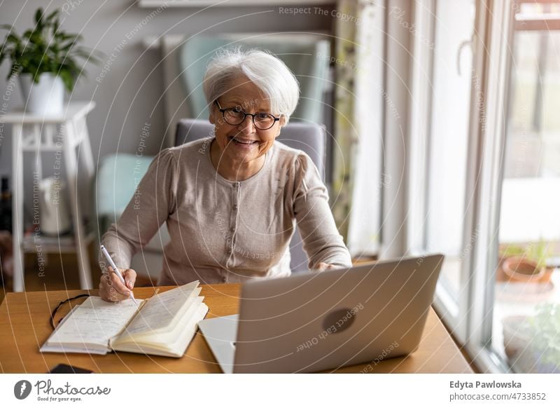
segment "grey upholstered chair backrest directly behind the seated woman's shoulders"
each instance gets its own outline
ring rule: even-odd
[[[181,144],[193,142],[193,140],[202,139],[202,137],[209,137],[213,134],[213,131],[214,125],[209,121],[181,119],[177,123],[175,145],[180,146]],[[316,123],[288,123],[288,125],[282,128],[276,140],[293,149],[299,149],[307,153],[324,180],[326,139],[323,125],[317,125]],[[307,271],[307,254],[303,250],[302,239],[297,229],[290,242],[290,255],[292,258],[290,268],[293,272]]]

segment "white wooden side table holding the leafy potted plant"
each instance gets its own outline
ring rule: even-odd
[[[33,116],[23,111],[13,111],[0,117],[1,122],[12,125],[14,292],[25,290],[23,253],[36,249],[35,245],[29,242],[33,238],[30,240],[24,238],[23,231],[23,153],[25,151],[36,154],[34,177],[39,181],[42,179],[41,152],[53,151],[62,156],[61,161],[64,162],[70,194],[73,243],[65,246],[42,245],[41,251],[76,252],[80,287],[83,290],[93,287],[87,254],[87,244],[93,239],[93,233],[86,236],[83,226],[83,214],[78,198],[78,159],[82,159],[87,179],[91,180],[94,163],[85,118],[94,107],[95,102],[71,102],[66,105],[63,113],[57,116]]]

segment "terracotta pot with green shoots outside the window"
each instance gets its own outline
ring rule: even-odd
[[[552,268],[547,268],[550,243],[540,240],[526,247],[508,245],[501,253],[497,277],[500,281],[547,283],[552,276]]]

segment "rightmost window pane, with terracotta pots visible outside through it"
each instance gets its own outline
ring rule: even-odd
[[[492,347],[560,372],[560,4],[514,3]]]

